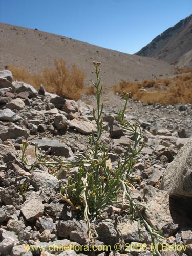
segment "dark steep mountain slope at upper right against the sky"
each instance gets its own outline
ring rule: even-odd
[[[136,54],[192,67],[192,15],[165,30]]]

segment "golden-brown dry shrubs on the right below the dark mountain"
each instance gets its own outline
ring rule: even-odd
[[[123,81],[114,87],[114,92],[131,91],[132,99],[140,100],[143,103],[160,103],[164,105],[192,103],[192,69],[191,71],[187,69],[187,72],[182,70],[182,75],[178,75],[173,79],[157,79],[154,82],[153,88],[150,88],[148,84],[151,84],[151,80],[148,82],[145,80],[141,83]],[[142,87],[150,89],[143,91],[141,90]]]

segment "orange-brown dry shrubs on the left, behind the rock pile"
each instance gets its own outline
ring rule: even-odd
[[[54,60],[54,68],[45,67],[41,73],[29,73],[26,68],[10,65],[7,67],[17,81],[31,84],[36,89],[44,84],[45,89],[50,93],[67,98],[78,100],[84,88],[84,72],[72,65],[71,70],[66,67],[62,59]]]

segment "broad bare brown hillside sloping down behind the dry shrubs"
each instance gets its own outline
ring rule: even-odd
[[[153,58],[140,57],[97,47],[64,36],[35,29],[0,23],[0,68],[14,63],[30,71],[53,65],[62,58],[68,65],[75,63],[86,73],[87,84],[93,78],[92,61],[102,63],[102,81],[114,84],[121,79],[152,79],[159,74],[170,74],[172,66]]]

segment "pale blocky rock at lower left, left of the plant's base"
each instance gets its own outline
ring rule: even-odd
[[[21,212],[27,221],[34,222],[44,214],[44,205],[40,200],[29,199],[22,204]]]

